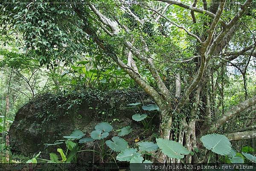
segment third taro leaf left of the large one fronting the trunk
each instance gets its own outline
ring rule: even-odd
[[[114,136],[111,140],[106,141],[106,145],[108,145],[109,148],[113,151],[123,151],[126,148],[128,148],[128,142],[126,142],[124,139]]]

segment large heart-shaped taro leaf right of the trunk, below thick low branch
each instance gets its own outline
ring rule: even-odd
[[[201,137],[204,147],[220,155],[230,154],[231,144],[226,136],[221,134],[208,134]]]

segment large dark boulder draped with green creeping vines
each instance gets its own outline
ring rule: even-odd
[[[63,139],[73,130],[89,133],[102,121],[112,122],[115,129],[132,122],[134,113],[143,112],[140,107],[127,104],[153,101],[143,91],[115,90],[76,90],[72,93],[43,94],[29,101],[18,110],[9,129],[10,146],[13,152],[24,155],[42,151],[48,155],[51,150],[45,143]],[[145,111],[144,111],[145,112]],[[55,148],[56,149],[56,148]]]

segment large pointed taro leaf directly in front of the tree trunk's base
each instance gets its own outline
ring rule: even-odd
[[[170,158],[182,159],[184,154],[189,154],[189,151],[180,143],[168,139],[156,139],[158,147]]]

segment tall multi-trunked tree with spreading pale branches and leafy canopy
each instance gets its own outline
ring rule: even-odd
[[[256,44],[248,26],[252,20],[255,25],[252,0],[239,4],[226,0],[190,2],[6,3],[3,17],[5,26],[23,34],[28,53],[40,56],[42,64],[52,64],[55,59],[68,63],[76,55],[95,52],[93,49],[104,53],[102,58],[111,58],[158,105],[160,136],[192,151],[203,134],[215,132],[255,104],[256,96],[248,97],[245,83],[246,101],[215,113],[211,103],[215,103],[216,86],[210,78],[222,64],[221,79],[226,64],[238,57],[245,61],[241,73],[246,75]],[[145,71],[150,72],[154,84],[145,79]],[[205,112],[200,110],[202,100]],[[214,120],[212,115],[219,117]],[[198,117],[204,119],[199,129]],[[166,162],[164,154],[158,155],[159,162]],[[186,162],[195,160],[191,155],[186,157]]]

